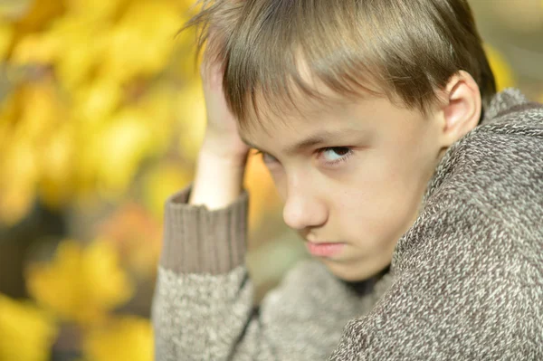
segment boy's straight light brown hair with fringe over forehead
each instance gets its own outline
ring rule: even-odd
[[[458,71],[469,72],[479,85],[483,109],[496,92],[466,0],[200,0],[199,5],[184,29],[195,27],[198,52],[206,43],[208,60],[223,65],[226,102],[242,126],[258,114],[257,98],[277,112],[285,109],[285,100],[296,108],[295,92],[323,98],[314,82],[304,79],[300,61],[312,80],[338,95],[366,90],[423,112]]]

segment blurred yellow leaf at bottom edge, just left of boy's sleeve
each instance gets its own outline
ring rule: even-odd
[[[149,320],[126,316],[93,328],[83,340],[83,356],[85,361],[151,361],[153,345]]]

